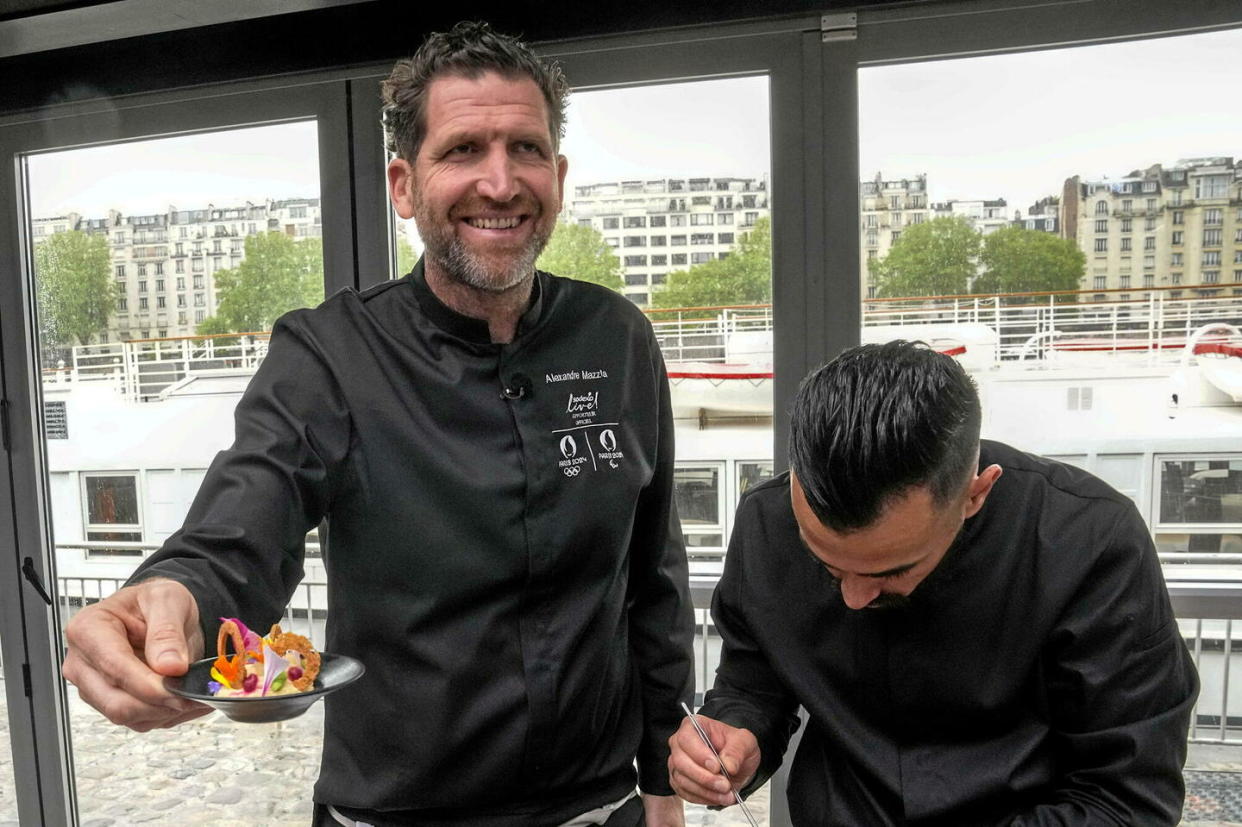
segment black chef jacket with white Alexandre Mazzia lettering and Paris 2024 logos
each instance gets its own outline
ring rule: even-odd
[[[184,528],[135,575],[184,582],[205,639],[277,620],[327,517],[315,800],[384,823],[554,825],[669,795],[693,690],[673,420],[646,317],[538,273],[510,344],[422,264],[284,315]],[[508,394],[505,394],[508,391]]]

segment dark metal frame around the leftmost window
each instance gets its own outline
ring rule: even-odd
[[[92,144],[133,142],[174,134],[217,132],[268,123],[314,119],[318,124],[320,204],[325,225],[324,288],[356,286],[359,235],[368,216],[359,189],[376,189],[383,169],[349,166],[351,133],[349,82],[339,73],[278,81],[250,81],[222,87],[178,89],[119,101],[87,101],[47,107],[34,114],[0,117],[0,268],[20,274],[0,279],[0,396],[6,401],[11,448],[2,446],[5,468],[0,530],[15,539],[14,559],[30,561],[45,587],[56,584],[55,549],[48,543],[50,492],[37,412],[39,375],[31,297],[34,237],[26,215],[24,178],[27,154]],[[375,127],[378,129],[378,125]],[[353,207],[353,211],[351,211]],[[201,261],[201,260],[197,260]],[[26,669],[31,693],[10,692],[10,740],[22,823],[76,823],[78,820],[68,741],[68,699],[60,677],[60,606],[43,603],[17,571],[0,571],[0,638],[9,687],[22,687]],[[10,587],[7,584],[12,584]]]

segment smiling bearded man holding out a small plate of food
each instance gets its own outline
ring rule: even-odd
[[[366,674],[324,702],[317,823],[677,827],[693,617],[663,359],[625,298],[534,268],[564,78],[461,24],[383,93],[425,257],[277,323],[232,448],[75,617],[65,676],[135,729],[202,714],[161,676],[217,618],[279,617],[325,519],[327,648]]]

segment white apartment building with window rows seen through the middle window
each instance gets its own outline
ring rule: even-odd
[[[602,233],[622,292],[647,307],[668,273],[727,257],[768,214],[766,179],[661,178],[575,186],[565,220]]]

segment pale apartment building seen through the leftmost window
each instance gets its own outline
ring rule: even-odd
[[[292,238],[322,236],[319,199],[104,219],[78,214],[34,220],[35,243],[56,232],[82,230],[108,240],[118,287],[117,312],[103,341],[194,335],[215,313],[220,298],[215,274],[246,256],[246,237],[277,231]]]

